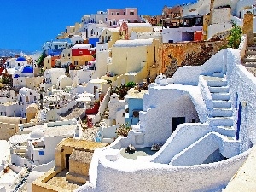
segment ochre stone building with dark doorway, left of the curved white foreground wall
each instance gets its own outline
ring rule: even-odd
[[[55,167],[32,183],[32,191],[73,191],[89,178],[89,167],[96,148],[107,146],[74,138],[66,138],[55,149]]]

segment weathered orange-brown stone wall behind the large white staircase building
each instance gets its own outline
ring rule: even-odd
[[[159,73],[172,77],[178,67],[201,66],[225,44],[225,41],[161,44],[158,52]]]

